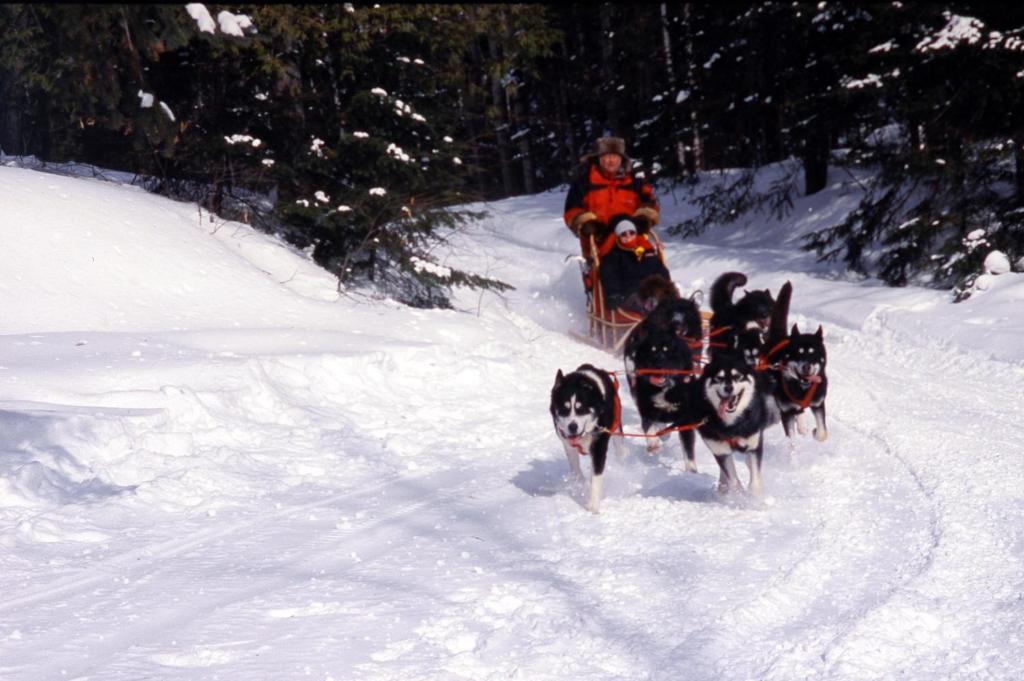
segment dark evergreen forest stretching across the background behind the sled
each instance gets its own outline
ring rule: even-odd
[[[501,287],[424,267],[438,227],[565,183],[602,134],[692,193],[671,232],[859,171],[819,257],[957,291],[1024,257],[1022,3],[206,9],[212,32],[183,4],[0,5],[0,150],[136,173],[417,305]]]

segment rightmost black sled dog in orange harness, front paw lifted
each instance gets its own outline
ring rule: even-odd
[[[810,408],[814,415],[814,439],[828,438],[825,424],[825,397],[828,395],[828,377],[825,375],[827,353],[824,332],[800,333],[793,325],[788,338],[772,357],[775,366],[775,405],[787,437],[793,437],[794,425],[803,435],[807,432],[800,418]]]

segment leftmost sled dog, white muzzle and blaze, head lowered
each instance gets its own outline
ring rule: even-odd
[[[551,388],[551,418],[577,478],[583,477],[580,457],[591,459],[593,475],[587,510],[592,513],[598,512],[601,503],[608,441],[612,434],[621,432],[620,414],[615,381],[608,372],[592,365],[581,365],[566,375],[558,370]],[[616,446],[621,446],[621,436],[615,439]]]

